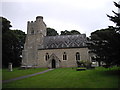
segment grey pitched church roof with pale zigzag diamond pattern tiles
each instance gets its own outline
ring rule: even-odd
[[[85,34],[46,36],[43,45],[39,49],[78,48],[86,47],[87,38]]]

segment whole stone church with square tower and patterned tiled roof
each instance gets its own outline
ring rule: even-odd
[[[27,36],[22,51],[22,66],[46,68],[77,67],[77,60],[89,60],[85,34],[46,36],[42,16],[27,23]]]

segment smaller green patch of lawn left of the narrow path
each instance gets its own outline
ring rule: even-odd
[[[10,72],[8,69],[2,69],[2,80],[8,80],[24,75],[29,75],[37,72],[41,72],[46,70],[47,68],[32,68],[32,69],[25,69],[20,70],[19,68],[13,68],[13,71]]]

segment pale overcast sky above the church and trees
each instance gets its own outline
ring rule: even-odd
[[[86,33],[114,25],[106,14],[118,12],[113,1],[119,0],[2,0],[0,16],[7,18],[11,29],[27,32],[27,21],[43,16],[47,27],[60,33],[78,30]],[[1,5],[0,5],[1,6]]]

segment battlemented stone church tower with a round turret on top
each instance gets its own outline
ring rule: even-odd
[[[46,24],[42,16],[37,16],[36,20],[28,21],[27,36],[22,51],[22,65],[37,65],[38,46],[43,44],[43,38],[46,36]],[[29,61],[28,61],[29,60]]]

